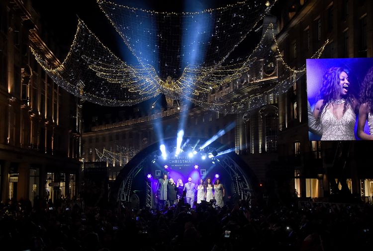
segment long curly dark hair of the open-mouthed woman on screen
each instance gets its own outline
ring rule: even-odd
[[[320,113],[319,117],[317,118],[320,120],[322,111],[326,105],[329,105],[329,101],[331,99],[335,99],[338,92],[340,92],[340,86],[339,86],[339,75],[342,72],[346,72],[347,75],[349,75],[350,71],[348,69],[342,68],[342,67],[331,67],[329,68],[322,77],[322,83],[319,93],[317,94],[317,99],[322,99],[322,105],[320,107]],[[347,105],[351,104],[351,97],[349,94],[345,97],[345,105],[343,108],[343,113],[346,112]]]

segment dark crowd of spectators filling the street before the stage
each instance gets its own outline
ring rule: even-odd
[[[373,207],[179,203],[162,210],[82,207],[79,201],[0,205],[1,250],[139,251],[371,250]]]

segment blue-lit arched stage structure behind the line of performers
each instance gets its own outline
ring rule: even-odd
[[[168,153],[166,159],[163,159],[160,152],[161,142],[144,148],[117,175],[110,188],[110,202],[113,204],[119,201],[130,202],[132,193],[137,191],[141,201],[140,206],[154,207],[157,203],[155,186],[165,173],[175,182],[180,177],[184,183],[189,176],[194,183],[197,183],[199,178],[205,180],[208,177],[215,180],[215,175],[218,174],[219,180],[227,190],[226,197],[251,200],[255,195],[255,189],[258,188],[258,179],[233,149],[231,152],[221,154],[229,148],[214,141],[198,153],[194,152],[191,158],[188,156],[193,148],[197,150],[198,146],[206,140],[196,137],[187,138],[186,143],[182,144],[186,151],[175,157],[177,139],[164,139],[162,143],[165,144]],[[206,156],[204,160],[202,156]],[[149,174],[151,178],[147,177]]]

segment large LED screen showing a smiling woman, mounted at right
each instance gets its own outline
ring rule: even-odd
[[[373,59],[307,60],[310,140],[373,139]]]

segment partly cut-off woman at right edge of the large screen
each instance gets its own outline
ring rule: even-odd
[[[367,75],[365,75],[360,101],[357,134],[361,139],[373,140],[373,67],[371,67]],[[364,125],[367,120],[370,134],[364,132]]]

